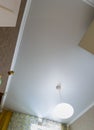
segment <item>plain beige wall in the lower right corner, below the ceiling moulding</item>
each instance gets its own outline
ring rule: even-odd
[[[76,120],[71,126],[71,130],[94,130],[94,106],[83,116]]]

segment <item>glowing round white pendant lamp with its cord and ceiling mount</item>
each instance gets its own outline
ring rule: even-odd
[[[59,90],[59,94],[60,94],[61,85],[60,84],[57,85],[56,89]],[[60,95],[60,98],[61,98],[61,95]],[[68,103],[60,103],[56,105],[54,109],[54,116],[59,119],[68,119],[73,115],[73,113],[74,113],[74,109]]]

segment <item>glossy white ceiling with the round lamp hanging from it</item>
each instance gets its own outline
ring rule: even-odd
[[[82,0],[32,1],[5,107],[69,123],[93,104],[94,55],[79,46],[93,18]],[[70,119],[52,116],[60,102],[74,107]]]

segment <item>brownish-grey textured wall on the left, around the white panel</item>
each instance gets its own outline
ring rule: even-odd
[[[6,88],[8,71],[10,70],[12,58],[14,55],[25,4],[26,0],[21,0],[16,27],[0,27],[0,74],[2,75],[3,81],[0,85],[0,93],[2,94]]]

